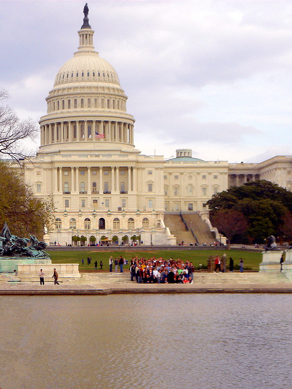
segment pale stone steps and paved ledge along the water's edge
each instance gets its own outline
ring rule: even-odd
[[[105,295],[113,293],[291,293],[285,274],[195,272],[193,284],[137,284],[130,273],[81,273],[81,279],[54,285],[17,282],[0,275],[0,295]]]

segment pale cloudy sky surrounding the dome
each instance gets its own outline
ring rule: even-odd
[[[79,44],[84,1],[0,1],[0,88],[21,118],[46,114]],[[292,154],[291,1],[88,1],[94,46],[136,120],[142,154],[208,161]]]

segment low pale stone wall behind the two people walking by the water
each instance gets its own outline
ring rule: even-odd
[[[18,265],[18,278],[21,281],[39,282],[40,269],[44,272],[44,282],[54,282],[54,268],[58,273],[58,281],[77,280],[81,277],[78,263],[54,263],[53,265]]]

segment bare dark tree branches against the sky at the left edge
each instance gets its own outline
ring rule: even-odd
[[[32,119],[20,120],[11,107],[4,105],[8,97],[7,91],[0,89],[0,153],[15,161],[31,158],[34,152],[24,147],[23,140],[37,136],[37,125]]]

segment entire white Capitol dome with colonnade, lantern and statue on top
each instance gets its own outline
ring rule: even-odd
[[[94,31],[83,19],[79,46],[58,71],[40,118],[40,150],[134,150],[134,118],[114,68],[93,47]],[[77,145],[78,144],[78,145]]]

